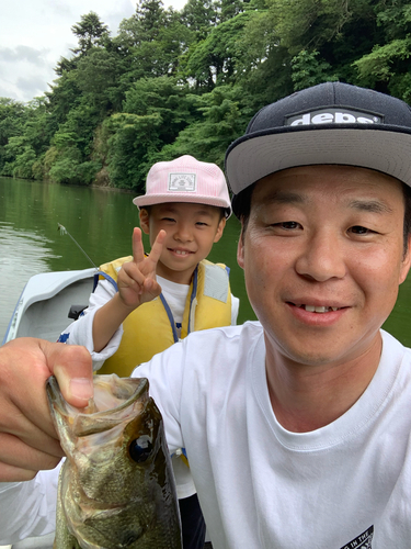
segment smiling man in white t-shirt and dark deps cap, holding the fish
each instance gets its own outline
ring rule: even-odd
[[[228,149],[261,324],[193,334],[134,372],[150,380],[170,450],[187,450],[215,549],[410,546],[411,355],[380,330],[411,262],[410,154],[410,108],[339,82],[262,109]],[[14,468],[0,479],[58,460],[43,384],[56,363],[64,386],[79,370],[47,360],[31,392],[23,356],[0,373],[0,460]],[[36,481],[38,497],[43,477],[0,495],[4,541]]]

